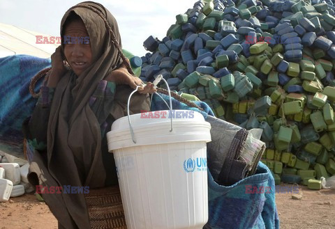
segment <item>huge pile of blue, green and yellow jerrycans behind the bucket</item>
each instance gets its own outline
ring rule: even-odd
[[[335,175],[335,1],[207,0],[144,41],[140,78],[159,74],[218,118],[261,128],[281,182]],[[163,85],[162,85],[163,87]]]

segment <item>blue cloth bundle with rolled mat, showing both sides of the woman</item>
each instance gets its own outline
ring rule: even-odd
[[[0,58],[0,150],[23,155],[22,123],[31,116],[37,99],[29,94],[31,78],[50,67],[50,59],[34,56]],[[36,91],[40,82],[36,85]],[[153,95],[151,111],[166,110],[170,97]],[[259,162],[265,145],[260,133],[214,117],[204,102],[198,108],[172,98],[173,109],[202,113],[211,123],[211,142],[207,143],[209,221],[207,228],[279,228],[274,177]],[[250,189],[265,190],[251,194]]]

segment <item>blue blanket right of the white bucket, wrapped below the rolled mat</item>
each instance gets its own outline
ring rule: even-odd
[[[169,104],[169,97],[163,94],[161,96]],[[151,111],[168,109],[165,102],[154,95]],[[209,106],[201,101],[195,104],[204,111],[191,108],[172,98],[173,109],[198,111],[207,121],[210,121],[213,111]],[[232,129],[227,125],[227,131],[228,128]],[[207,148],[207,161],[211,161],[209,157],[213,157],[214,152],[208,152],[208,150],[209,148]],[[220,153],[222,150],[216,152],[216,154]],[[222,156],[216,155],[216,158],[220,157]],[[259,162],[255,175],[245,177],[230,186],[220,185],[214,180],[211,175],[216,173],[214,164],[208,163],[208,168],[209,220],[204,229],[279,228],[274,177],[265,164]]]

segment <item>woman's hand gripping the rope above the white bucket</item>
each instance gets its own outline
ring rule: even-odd
[[[112,81],[115,84],[129,85],[133,89],[135,89],[137,86],[140,86],[140,88],[138,88],[138,92],[141,94],[152,94],[156,92],[154,84],[152,84],[151,82],[147,82],[147,84],[145,85],[140,78],[130,74],[124,65],[122,65],[121,68],[110,72],[106,80]]]

